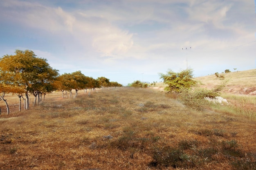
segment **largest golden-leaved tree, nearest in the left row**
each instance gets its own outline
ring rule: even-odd
[[[16,50],[15,55],[0,58],[0,81],[5,93],[25,94],[25,109],[29,109],[29,93],[38,98],[40,94],[51,93],[58,70],[53,69],[44,58],[36,57],[31,50]],[[35,104],[34,102],[34,104]]]

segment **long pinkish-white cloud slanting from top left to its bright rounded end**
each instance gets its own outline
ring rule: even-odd
[[[132,34],[112,25],[111,18],[109,20],[100,12],[98,15],[83,14],[83,17],[76,18],[75,14],[65,12],[61,7],[52,8],[15,0],[10,0],[9,5],[5,6],[18,9],[18,13],[5,11],[9,13],[7,19],[19,22],[28,29],[49,31],[54,36],[65,37],[65,34],[72,34],[74,41],[81,43],[79,46],[86,49],[91,46],[92,51],[101,53],[102,56],[126,53],[133,44]],[[22,8],[27,10],[21,10]]]

